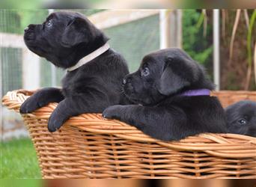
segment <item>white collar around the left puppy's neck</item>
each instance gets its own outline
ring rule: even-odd
[[[108,49],[109,49],[109,43],[105,43],[104,46],[101,46],[99,49],[95,50],[94,52],[91,52],[89,55],[86,55],[84,58],[81,58],[73,67],[67,68],[67,71],[73,71],[79,67],[82,67],[82,65],[88,63],[94,58],[97,58],[98,56],[106,52]]]

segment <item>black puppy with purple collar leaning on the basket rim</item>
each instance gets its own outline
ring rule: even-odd
[[[225,111],[214,85],[186,52],[162,49],[146,55],[138,71],[124,78],[124,93],[138,105],[113,105],[103,117],[118,119],[163,141],[202,132],[227,132]]]

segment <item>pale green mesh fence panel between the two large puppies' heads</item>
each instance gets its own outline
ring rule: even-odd
[[[159,49],[159,16],[149,16],[104,29],[109,44],[126,58],[130,72],[138,69],[147,53]]]

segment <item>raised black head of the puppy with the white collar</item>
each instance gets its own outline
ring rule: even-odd
[[[24,40],[32,52],[67,68],[108,39],[82,14],[60,11],[50,14],[42,24],[28,25]]]

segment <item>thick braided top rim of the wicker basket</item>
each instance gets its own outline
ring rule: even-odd
[[[2,103],[7,106],[7,108],[19,112],[19,107],[22,102],[32,93],[34,93],[34,91],[9,91],[2,98]],[[256,91],[219,91],[217,93],[252,93],[256,96]],[[49,103],[49,105],[39,108],[31,114],[22,114],[22,116],[29,115],[31,117],[48,120],[57,105],[57,103]],[[64,126],[72,126],[73,128],[94,132],[95,134],[115,135],[130,141],[160,144],[175,150],[204,150],[213,156],[226,156],[230,158],[256,156],[256,138],[246,135],[205,133],[190,136],[180,141],[159,141],[144,135],[143,132],[133,126],[129,126],[127,123],[123,123],[119,120],[104,119],[101,114],[81,114],[77,117],[71,117]],[[54,133],[59,132],[61,132],[61,129]],[[255,150],[255,152],[253,150]],[[233,151],[233,153],[227,154],[227,152],[230,151]]]

